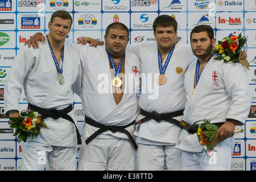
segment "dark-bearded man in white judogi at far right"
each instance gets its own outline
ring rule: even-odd
[[[192,30],[191,48],[198,61],[191,63],[185,73],[187,102],[183,120],[199,125],[204,119],[210,119],[219,126],[216,137],[225,140],[209,152],[208,160],[196,134],[182,130],[177,147],[182,150],[183,170],[230,170],[233,131],[236,125],[245,123],[250,110],[246,68],[240,63],[214,60],[214,43],[212,27],[201,25]]]

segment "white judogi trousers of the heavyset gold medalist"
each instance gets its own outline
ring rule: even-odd
[[[129,139],[113,136],[110,139],[94,138],[89,144],[81,146],[79,171],[133,171],[134,169],[135,150]]]

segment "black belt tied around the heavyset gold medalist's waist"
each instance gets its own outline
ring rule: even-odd
[[[131,125],[134,125],[135,121],[131,122],[130,124],[128,125],[125,125],[125,126],[106,126],[106,125],[102,125],[100,123],[97,123],[95,121],[93,121],[92,119],[86,117],[85,115],[85,122],[88,123],[89,125],[91,126],[94,126],[94,127],[98,127],[100,129],[98,129],[94,134],[90,135],[90,137],[88,139],[85,140],[85,143],[88,144],[90,142],[92,142],[92,140],[94,138],[96,138],[98,135],[100,135],[101,133],[103,133],[104,131],[112,131],[113,133],[119,131],[121,133],[125,133],[129,139],[131,140],[131,142],[133,143],[133,146],[135,148],[135,150],[138,149],[138,146],[134,140],[134,138],[131,136],[131,134],[129,133],[129,131],[127,131],[125,128],[128,127],[128,126],[131,126]]]

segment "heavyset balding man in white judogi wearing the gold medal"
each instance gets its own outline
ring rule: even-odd
[[[77,46],[86,115],[78,168],[134,170],[137,144],[132,135],[139,110],[139,59],[125,51],[129,42],[125,25],[110,24],[104,38],[106,46]],[[122,84],[118,78],[113,82],[114,77],[122,78]]]

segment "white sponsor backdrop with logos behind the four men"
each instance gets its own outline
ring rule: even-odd
[[[6,76],[18,49],[35,32],[47,32],[51,14],[57,10],[67,10],[72,15],[73,26],[68,39],[75,43],[81,36],[103,40],[105,28],[112,22],[126,24],[130,44],[154,42],[152,23],[162,14],[177,20],[177,35],[184,40],[189,40],[192,28],[199,24],[212,26],[217,40],[231,33],[242,32],[248,36],[251,110],[242,126],[245,133],[236,135],[232,170],[256,170],[256,0],[0,0],[0,171],[22,169],[22,142],[18,143],[13,137],[15,130],[10,129],[8,118],[3,114]],[[26,97],[22,93],[20,110],[26,107]],[[73,107],[82,133],[84,112],[78,96]],[[79,150],[80,146],[77,147],[77,160]]]

